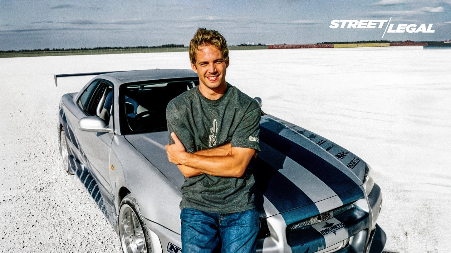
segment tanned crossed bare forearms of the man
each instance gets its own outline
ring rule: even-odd
[[[255,153],[252,148],[232,147],[230,143],[193,154],[186,151],[175,133],[171,133],[174,144],[166,145],[166,153],[171,163],[179,167],[187,178],[200,174],[219,177],[240,178]]]

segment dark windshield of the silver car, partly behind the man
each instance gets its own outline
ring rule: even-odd
[[[121,85],[121,131],[123,134],[166,131],[167,104],[198,83],[197,79]]]

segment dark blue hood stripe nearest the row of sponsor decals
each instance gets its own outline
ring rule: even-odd
[[[260,141],[267,143],[272,148],[299,163],[337,194],[358,187],[340,169],[322,159],[317,154],[308,151],[303,146],[279,135],[278,133],[284,128],[282,124],[274,120],[263,122],[260,124]]]

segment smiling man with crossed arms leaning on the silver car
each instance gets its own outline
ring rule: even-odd
[[[166,109],[168,159],[185,177],[182,250],[255,252],[259,219],[247,168],[260,150],[260,107],[226,83],[229,50],[219,32],[199,28],[189,57],[199,85]]]

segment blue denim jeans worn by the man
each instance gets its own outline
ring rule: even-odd
[[[260,221],[257,210],[239,213],[207,213],[184,208],[182,221],[183,253],[254,253]]]

